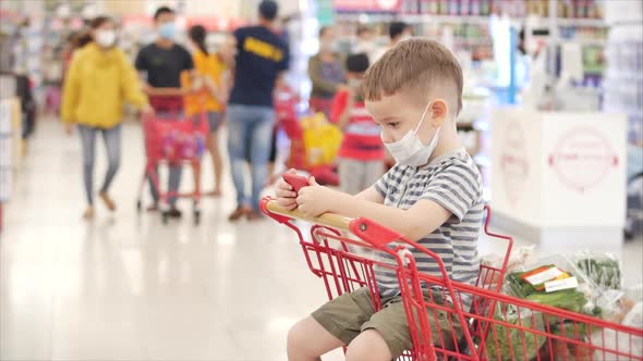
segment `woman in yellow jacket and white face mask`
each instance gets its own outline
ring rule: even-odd
[[[117,34],[109,17],[90,24],[93,41],[76,51],[65,77],[62,121],[68,134],[75,124],[83,146],[83,176],[88,207],[85,219],[94,216],[94,151],[96,134],[101,133],[107,148],[108,170],[99,196],[110,211],[116,210],[108,189],[120,165],[123,103],[129,101],[150,112],[138,76],[126,55],[114,47]]]

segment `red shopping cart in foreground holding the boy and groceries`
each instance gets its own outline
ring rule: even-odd
[[[506,241],[507,251],[500,266],[481,266],[475,286],[450,281],[436,253],[369,220],[335,214],[310,219],[286,211],[270,198],[262,200],[262,210],[296,233],[310,270],[323,278],[330,299],[360,287],[378,295],[375,267],[397,273],[413,341],[413,349],[399,360],[643,360],[643,329],[500,294],[512,239],[488,231],[489,208],[485,233]],[[310,237],[295,220],[314,223]],[[396,265],[355,254],[349,245],[388,253]],[[441,276],[418,272],[410,248],[433,258]],[[436,294],[450,302],[438,302]],[[376,310],[383,307],[377,296],[373,303]],[[453,329],[459,325],[461,337],[434,335],[429,320],[448,322]]]

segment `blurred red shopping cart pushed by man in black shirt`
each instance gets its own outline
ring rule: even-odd
[[[205,113],[186,119],[182,114],[182,98],[154,97],[151,104],[155,114],[143,119],[143,135],[145,138],[145,171],[138,188],[136,208],[142,209],[142,194],[145,180],[149,178],[151,187],[160,198],[162,222],[167,223],[169,213],[167,201],[169,198],[181,197],[193,200],[194,223],[201,222],[201,158],[205,151],[205,139],[208,133],[208,122]],[[158,166],[168,164],[182,166],[190,164],[194,175],[194,190],[187,194],[161,191]]]

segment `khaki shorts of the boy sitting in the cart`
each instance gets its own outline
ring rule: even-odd
[[[444,304],[441,292],[434,294],[434,301]],[[383,299],[381,303],[384,308],[379,312],[375,312],[371,292],[367,288],[360,288],[327,302],[313,312],[312,316],[344,345],[349,345],[366,329],[377,329],[386,341],[393,359],[397,359],[402,352],[413,347],[407,313],[399,296]],[[441,347],[440,338],[437,335],[439,331],[445,340],[445,347],[453,349],[453,336],[457,340],[462,337],[462,327],[454,313],[451,314],[453,322],[451,327],[446,311],[435,311],[438,323],[436,325],[433,309],[427,308],[427,310],[434,344]]]

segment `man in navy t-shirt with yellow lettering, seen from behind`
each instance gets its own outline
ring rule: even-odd
[[[259,3],[259,24],[234,32],[236,63],[234,86],[228,105],[228,150],[236,209],[230,221],[242,216],[256,220],[259,194],[268,179],[268,153],[275,123],[272,92],[288,69],[289,49],[276,34],[278,7],[272,0]],[[245,159],[250,153],[252,195],[245,194]]]

